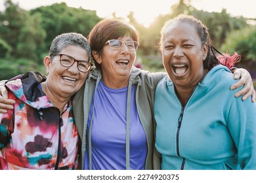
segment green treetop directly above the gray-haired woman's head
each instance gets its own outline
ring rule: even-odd
[[[46,32],[45,49],[51,46],[54,37],[61,33],[76,32],[87,37],[91,29],[101,19],[95,10],[68,7],[66,3],[54,3],[51,6],[30,10],[30,14],[41,14],[41,27]]]

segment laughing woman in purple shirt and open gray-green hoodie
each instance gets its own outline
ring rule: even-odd
[[[126,22],[102,20],[88,39],[96,69],[73,99],[81,168],[160,169],[153,106],[156,85],[166,74],[133,67],[139,37]],[[251,84],[243,78],[240,84]]]

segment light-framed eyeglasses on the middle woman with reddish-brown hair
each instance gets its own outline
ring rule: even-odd
[[[105,44],[109,44],[110,48],[113,50],[120,50],[123,46],[123,43],[126,44],[128,50],[136,51],[139,47],[139,42],[137,41],[120,41],[118,39],[108,40]]]

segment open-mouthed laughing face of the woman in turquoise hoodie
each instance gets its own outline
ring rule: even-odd
[[[203,59],[206,56],[207,45],[202,45],[194,25],[176,21],[165,29],[163,65],[175,86],[194,88],[205,74]]]

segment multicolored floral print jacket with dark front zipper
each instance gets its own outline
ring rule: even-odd
[[[26,73],[5,84],[16,103],[0,114],[0,169],[77,169],[79,136],[71,101],[60,114],[41,90],[45,79]]]

